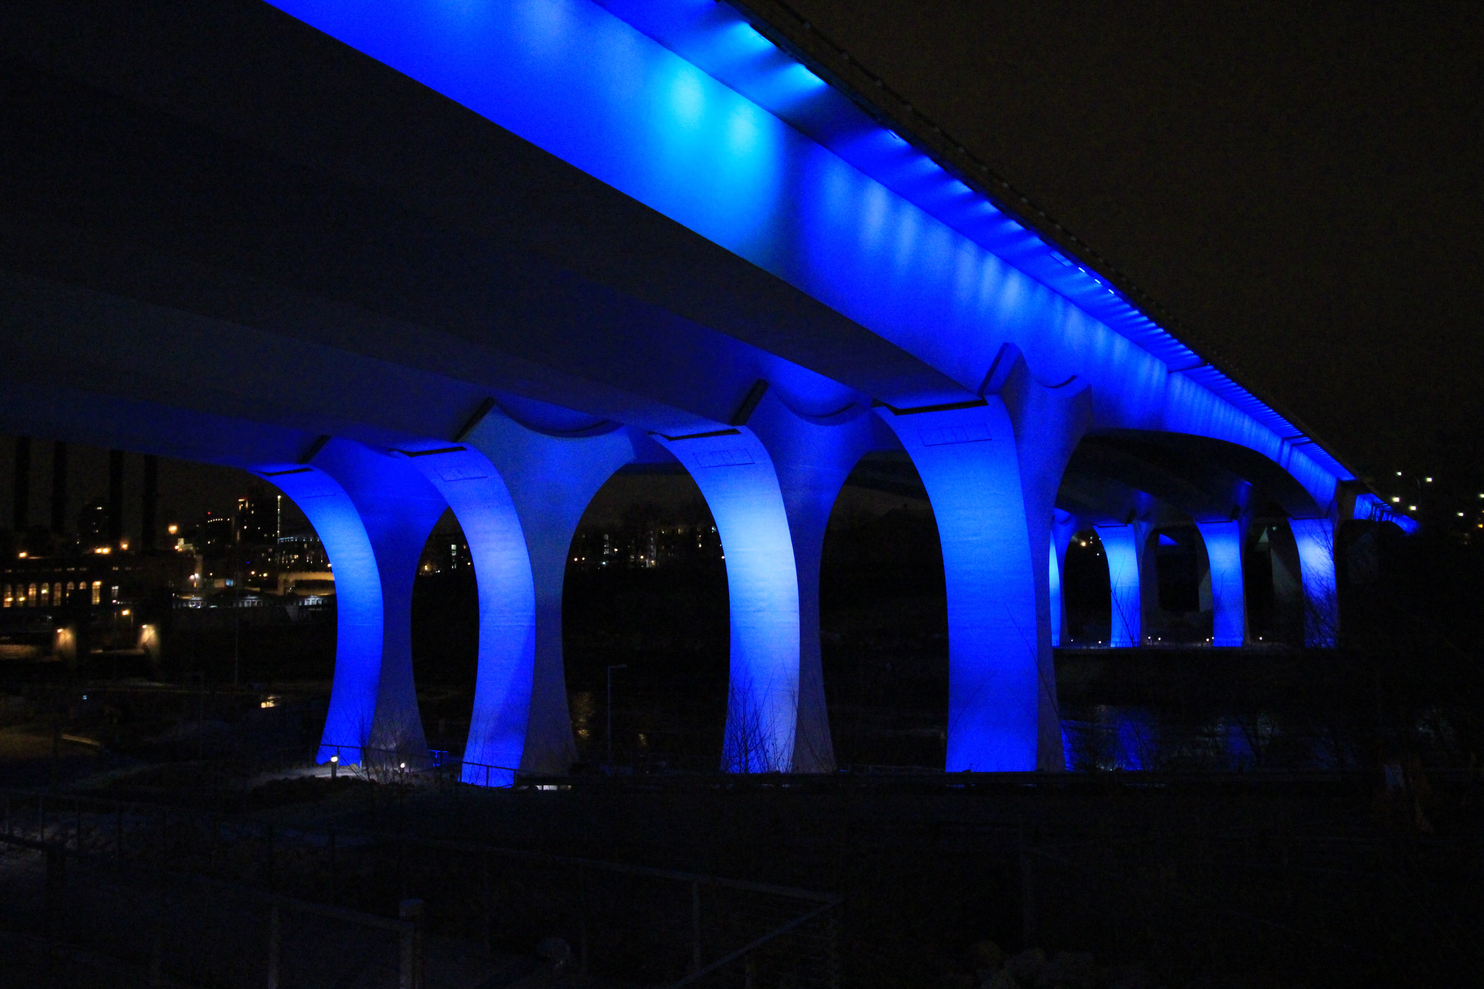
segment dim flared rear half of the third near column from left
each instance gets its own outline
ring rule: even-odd
[[[835,415],[794,411],[776,390],[769,391],[748,420],[773,461],[784,498],[794,574],[798,586],[798,703],[792,773],[833,773],[834,743],[825,704],[819,657],[819,558],[825,528],[840,488],[855,464],[873,449],[893,446],[881,423],[864,406]],[[726,547],[726,543],[723,541]],[[726,549],[727,560],[732,550]]]

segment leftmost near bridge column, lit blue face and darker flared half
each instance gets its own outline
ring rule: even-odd
[[[335,676],[319,762],[424,764],[413,580],[447,504],[405,460],[352,440],[329,440],[312,466],[260,473],[304,512],[335,572]]]

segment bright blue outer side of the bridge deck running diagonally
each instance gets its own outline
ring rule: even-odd
[[[1251,446],[1290,469],[1321,507],[1349,476],[1095,273],[766,50],[726,4],[276,6],[776,274],[966,390],[1009,341],[1048,381],[1082,375],[1097,426]],[[942,400],[951,397],[963,396]]]

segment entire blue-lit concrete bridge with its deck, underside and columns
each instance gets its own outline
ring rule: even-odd
[[[948,770],[1064,767],[1071,534],[1106,547],[1113,646],[1172,525],[1215,646],[1248,641],[1260,534],[1331,646],[1339,526],[1411,526],[766,3],[47,0],[0,13],[0,429],[304,510],[338,601],[321,758],[423,752],[413,577],[453,509],[466,759],[567,771],[564,566],[634,463],[715,517],[746,771],[834,765],[819,558],[867,454],[936,517]]]

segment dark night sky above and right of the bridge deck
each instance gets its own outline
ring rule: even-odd
[[[1484,7],[789,1],[1358,470],[1477,469]]]

